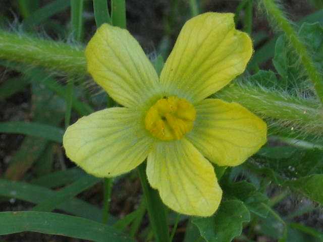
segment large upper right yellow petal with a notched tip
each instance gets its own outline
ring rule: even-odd
[[[244,72],[252,42],[233,17],[205,13],[185,23],[160,75],[169,95],[196,103]]]

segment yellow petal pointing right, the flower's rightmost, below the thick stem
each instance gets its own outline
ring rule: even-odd
[[[186,138],[218,165],[239,165],[266,142],[266,124],[238,103],[205,99],[195,108],[195,124]]]

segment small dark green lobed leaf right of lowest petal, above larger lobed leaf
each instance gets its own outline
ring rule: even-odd
[[[239,199],[250,212],[257,214],[260,217],[266,217],[268,210],[262,206],[262,203],[268,204],[269,199],[261,192],[258,192],[256,187],[247,181],[232,181],[222,180],[221,188],[224,191],[224,196],[229,199]]]

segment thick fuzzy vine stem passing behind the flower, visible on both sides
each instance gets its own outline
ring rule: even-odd
[[[88,75],[83,47],[1,29],[0,58],[72,75]],[[278,90],[267,90],[248,83],[229,85],[214,97],[238,102],[263,117],[287,120],[291,125],[304,125],[302,129],[305,133],[323,133],[323,109],[308,99],[294,98]]]

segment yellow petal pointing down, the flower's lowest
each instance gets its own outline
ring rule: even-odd
[[[156,143],[148,155],[147,176],[161,200],[179,213],[211,216],[219,207],[222,190],[213,167],[185,139]]]

